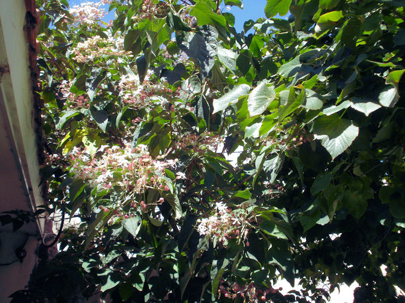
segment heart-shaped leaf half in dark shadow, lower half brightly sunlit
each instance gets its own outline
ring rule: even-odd
[[[313,126],[315,139],[330,153],[332,159],[345,151],[359,135],[359,127],[337,114],[316,118]]]

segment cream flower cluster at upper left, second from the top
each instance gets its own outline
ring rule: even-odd
[[[131,51],[124,50],[124,39],[123,38],[101,38],[100,36],[93,36],[88,38],[83,42],[77,43],[77,45],[72,49],[75,55],[74,59],[79,63],[90,63],[93,64],[98,59],[103,59],[106,57],[132,57]],[[119,58],[120,62],[124,62],[122,58]],[[103,60],[100,60],[103,61]]]

